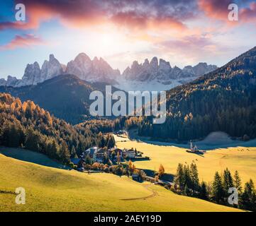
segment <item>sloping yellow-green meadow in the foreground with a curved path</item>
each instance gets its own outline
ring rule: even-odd
[[[25,205],[15,203],[13,192],[20,186],[26,189]],[[0,211],[238,210],[128,177],[45,167],[0,154]]]

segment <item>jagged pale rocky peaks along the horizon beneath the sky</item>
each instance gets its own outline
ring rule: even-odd
[[[67,66],[60,64],[53,54],[50,54],[49,60],[45,60],[40,68],[38,62],[28,64],[24,75],[21,79],[13,76],[8,76],[7,80],[0,79],[0,85],[21,87],[25,85],[36,85],[50,78],[59,76],[64,73],[73,74],[78,78],[94,82],[105,82],[123,90],[136,90],[139,83],[150,83],[155,88],[160,85],[160,89],[172,88],[176,85],[187,83],[205,73],[217,69],[217,66],[199,63],[196,66],[185,66],[184,69],[179,69],[177,66],[173,68],[168,61],[153,57],[151,61],[145,59],[143,64],[138,64],[138,61],[133,61],[132,66],[128,67],[123,73],[118,69],[112,69],[111,66],[102,58],[94,57],[91,60],[87,54],[80,53],[74,60],[69,61]],[[133,84],[136,83],[136,84]],[[172,84],[172,85],[170,85]],[[142,85],[141,85],[142,86]],[[140,87],[140,90],[143,90]]]

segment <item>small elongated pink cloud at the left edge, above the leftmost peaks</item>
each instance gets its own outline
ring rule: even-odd
[[[0,50],[16,49],[18,47],[31,47],[38,44],[45,44],[40,37],[32,34],[16,35],[11,42],[0,46]]]

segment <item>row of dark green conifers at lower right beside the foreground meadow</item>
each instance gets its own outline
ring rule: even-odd
[[[199,182],[199,173],[195,163],[192,162],[190,166],[179,163],[172,191],[184,196],[231,206],[228,203],[228,197],[231,195],[228,191],[230,188],[238,191],[238,203],[233,207],[256,210],[256,190],[252,179],[243,187],[238,171],[232,175],[228,168],[223,171],[223,174],[216,172],[213,182],[206,184],[206,182]]]

